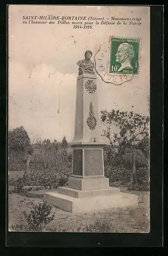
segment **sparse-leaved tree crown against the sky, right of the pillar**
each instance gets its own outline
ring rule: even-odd
[[[103,129],[103,137],[109,140],[111,150],[119,155],[125,153],[127,147],[138,144],[143,138],[149,136],[148,124],[149,117],[136,113],[119,110],[111,110],[111,112],[101,111],[101,120],[106,129]],[[118,133],[111,131],[111,126],[118,127]]]

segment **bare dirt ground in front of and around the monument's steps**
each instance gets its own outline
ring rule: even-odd
[[[113,227],[111,232],[142,233],[150,231],[150,210],[148,191],[127,191],[138,196],[138,206],[112,208],[83,214],[72,214],[52,208],[54,219],[42,231],[47,232],[85,232],[86,224],[95,220],[106,220]],[[32,209],[32,202],[43,202],[39,198],[28,198],[19,194],[9,195],[9,230],[24,231],[27,225],[24,211]]]

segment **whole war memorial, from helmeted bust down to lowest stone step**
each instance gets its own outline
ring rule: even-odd
[[[137,205],[136,195],[121,193],[110,187],[104,176],[103,142],[100,135],[98,84],[91,61],[92,52],[86,51],[79,60],[76,88],[75,134],[70,143],[73,149],[72,177],[68,187],[58,193],[44,194],[44,201],[70,212],[86,212],[113,207]]]

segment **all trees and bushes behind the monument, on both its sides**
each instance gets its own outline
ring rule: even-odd
[[[102,136],[109,141],[104,148],[104,171],[109,184],[119,182],[129,189],[149,190],[149,117],[119,110],[101,114]],[[38,139],[30,145],[21,126],[9,132],[9,152],[9,170],[24,170],[23,178],[12,181],[15,191],[25,185],[67,185],[72,174],[72,151],[65,136],[62,142]]]

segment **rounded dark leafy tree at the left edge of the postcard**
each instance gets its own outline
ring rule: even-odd
[[[9,151],[25,151],[30,147],[30,138],[23,126],[9,131],[8,135]]]

